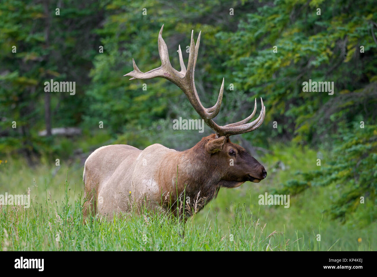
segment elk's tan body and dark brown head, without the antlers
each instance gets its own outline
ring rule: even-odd
[[[143,151],[130,145],[108,145],[85,162],[84,217],[91,210],[111,219],[114,213],[127,212],[133,202],[144,200],[150,210],[162,208],[187,217],[216,197],[220,187],[259,182],[266,174],[244,148],[215,134],[183,152],[160,144]]]

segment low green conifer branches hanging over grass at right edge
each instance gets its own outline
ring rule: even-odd
[[[320,169],[299,171],[297,175],[301,179],[286,182],[274,193],[294,195],[310,187],[328,187],[333,191],[328,210],[333,218],[351,223],[355,223],[356,218],[359,225],[367,225],[377,219],[374,209],[377,204],[377,130],[370,125],[360,128],[359,124],[354,124],[352,133],[347,128],[342,130],[335,139],[338,143],[331,157],[322,159]]]

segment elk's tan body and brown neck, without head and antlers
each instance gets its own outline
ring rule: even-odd
[[[198,147],[178,152],[161,144],[150,145],[143,151],[121,144],[98,148],[85,162],[84,216],[90,207],[93,213],[111,219],[113,213],[127,212],[130,205],[144,199],[149,208],[168,211],[177,194],[182,199],[189,196],[190,202],[200,198],[204,201],[203,197],[208,202],[216,195],[220,176],[210,176],[201,154]]]

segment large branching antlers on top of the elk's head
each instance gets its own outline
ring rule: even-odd
[[[152,79],[156,77],[162,77],[170,82],[176,84],[187,96],[187,99],[189,99],[190,103],[196,110],[196,112],[200,115],[202,119],[204,119],[205,123],[215,131],[217,136],[226,136],[229,137],[231,135],[237,135],[242,133],[247,133],[254,131],[259,126],[262,125],[262,122],[264,120],[264,116],[266,114],[266,108],[263,105],[263,100],[261,98],[262,103],[262,110],[259,114],[258,118],[255,119],[253,122],[248,123],[251,118],[255,115],[256,112],[256,99],[254,103],[254,110],[253,113],[251,113],[250,116],[245,118],[244,120],[241,120],[236,123],[231,123],[224,126],[217,125],[212,118],[214,118],[216,115],[218,115],[220,111],[220,106],[222,102],[222,95],[224,92],[224,78],[222,79],[222,84],[220,88],[219,97],[217,99],[217,102],[215,106],[210,108],[205,108],[198,96],[198,93],[196,92],[195,88],[195,81],[194,81],[194,73],[195,73],[195,64],[196,59],[198,58],[198,50],[199,50],[199,42],[200,42],[200,34],[198,36],[198,40],[196,41],[196,45],[194,43],[194,30],[191,32],[191,43],[190,43],[190,54],[189,54],[189,63],[187,64],[187,70],[185,67],[185,64],[182,59],[182,51],[181,46],[178,46],[178,55],[179,55],[179,64],[181,65],[181,71],[175,70],[172,65],[170,64],[169,60],[169,53],[167,51],[167,46],[162,38],[162,29],[164,29],[164,25],[162,25],[161,30],[158,34],[158,52],[160,54],[161,59],[161,66],[152,70],[149,70],[146,73],[141,72],[138,67],[135,64],[135,60],[132,59],[133,63],[133,70],[129,73],[127,73],[124,76],[131,76],[130,80],[134,79]],[[195,49],[195,50],[193,50]]]

